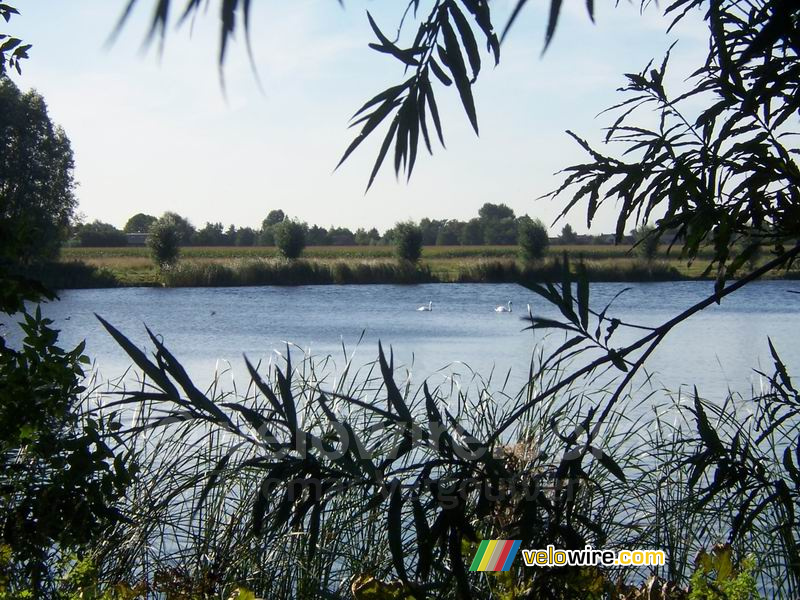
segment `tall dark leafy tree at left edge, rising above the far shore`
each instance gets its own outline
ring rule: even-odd
[[[74,189],[72,148],[44,98],[0,75],[0,262],[53,258],[75,210]]]

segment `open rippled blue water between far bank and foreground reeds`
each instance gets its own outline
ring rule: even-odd
[[[711,291],[708,282],[594,284],[592,304],[602,308],[624,287],[631,290],[609,315],[657,325]],[[757,383],[754,367],[770,370],[767,337],[790,372],[800,367],[800,295],[793,282],[751,284],[683,324],[649,362],[669,389],[696,384],[707,397],[727,389],[746,392]],[[511,300],[512,314],[494,307]],[[432,312],[416,308],[433,302]],[[522,385],[534,344],[553,346],[563,335],[523,331],[520,319],[530,303],[536,314],[557,317],[538,296],[517,285],[304,286],[65,291],[60,302],[44,307],[62,330],[65,347],[87,340],[87,353],[104,378],[124,372],[130,361],[94,317],[98,313],[139,346],[150,349],[144,324],[163,336],[198,384],[214,369],[233,365],[244,381],[242,355],[275,360],[285,341],[316,355],[332,354],[342,364],[342,343],[356,350],[356,364],[377,356],[377,343],[391,346],[395,362],[411,366],[413,378],[440,378],[466,372],[456,361],[501,381],[511,369],[511,386]],[[6,330],[12,343],[13,328]],[[619,336],[621,345],[630,336]],[[298,350],[299,353],[299,350]],[[439,371],[443,369],[443,371]],[[501,375],[502,374],[502,375]]]

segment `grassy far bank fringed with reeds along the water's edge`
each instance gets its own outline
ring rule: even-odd
[[[553,246],[548,258],[530,264],[519,260],[516,246],[429,246],[418,269],[399,264],[389,246],[310,247],[294,263],[274,247],[187,247],[179,265],[162,274],[146,248],[66,248],[62,266],[49,267],[45,281],[56,288],[543,281],[560,279],[564,252],[573,265],[586,265],[592,281],[694,279],[707,265],[665,251],[646,262],[630,248],[608,245]]]

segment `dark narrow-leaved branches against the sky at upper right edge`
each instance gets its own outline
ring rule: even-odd
[[[708,269],[716,265],[719,289],[759,244],[784,256],[779,266],[791,264],[794,254],[784,244],[800,238],[797,150],[786,145],[796,135],[791,117],[800,108],[800,43],[790,25],[800,7],[778,0],[752,7],[734,0],[676,0],[666,12],[679,20],[699,7],[705,9],[710,52],[691,86],[668,93],[669,53],[660,66],[648,63],[627,74],[627,98],[609,109],[622,112],[606,141],[620,142],[623,158],[630,158],[603,154],[570,133],[592,160],[565,169],[564,184],[552,195],[577,189],[563,212],[587,199],[589,223],[604,202],[618,201],[618,239],[630,221],[646,223],[663,214],[653,236],[674,231],[669,241],[681,242],[683,256],[692,259],[701,245],[714,246]],[[699,111],[698,103],[704,106]],[[657,127],[631,122],[645,107],[656,113]]]

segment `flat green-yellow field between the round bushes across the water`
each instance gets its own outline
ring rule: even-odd
[[[366,283],[391,281],[394,269],[394,249],[391,246],[313,246],[306,248],[304,273],[312,282]],[[548,257],[533,265],[535,273],[548,273],[557,268],[556,261],[564,253],[576,264],[584,261],[595,280],[680,279],[701,277],[710,253],[701,254],[693,263],[679,258],[677,252],[659,253],[653,265],[646,265],[627,246],[613,245],[554,245]],[[257,265],[275,271],[278,252],[274,247],[185,247],[181,251],[180,277],[168,285],[230,285],[236,284],[237,272]],[[158,269],[153,265],[147,248],[65,248],[62,263],[79,263],[113,275],[120,285],[163,285]],[[427,246],[423,249],[422,280],[433,281],[503,281],[511,280],[524,265],[519,261],[516,246]],[[653,267],[657,268],[653,268]],[[250,269],[252,270],[252,269]],[[358,270],[359,277],[351,270]],[[380,271],[380,276],[375,271]],[[316,275],[310,272],[314,271]],[[336,276],[334,271],[345,271]],[[530,269],[529,269],[530,271]],[[272,282],[289,271],[285,265],[267,278]],[[318,277],[320,273],[327,275]],[[407,273],[398,281],[409,282]],[[317,277],[317,279],[314,279]],[[301,281],[306,281],[300,277]],[[296,282],[294,279],[293,282]],[[254,283],[252,280],[250,284]]]

